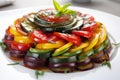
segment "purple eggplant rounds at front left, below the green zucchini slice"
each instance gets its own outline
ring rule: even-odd
[[[40,67],[47,66],[47,62],[46,58],[39,59],[28,55],[25,56],[23,61],[24,65],[31,69],[38,69]]]

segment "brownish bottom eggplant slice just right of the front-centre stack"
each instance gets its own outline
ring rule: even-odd
[[[87,71],[87,70],[90,70],[90,69],[93,69],[95,67],[95,63],[93,62],[89,62],[87,64],[84,64],[84,65],[77,65],[76,69],[78,71]]]

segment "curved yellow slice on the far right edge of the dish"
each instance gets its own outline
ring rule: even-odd
[[[105,26],[103,26],[103,25],[100,26],[98,31],[100,32],[100,37],[99,37],[98,43],[96,44],[95,47],[100,46],[107,38],[107,31],[106,31]]]

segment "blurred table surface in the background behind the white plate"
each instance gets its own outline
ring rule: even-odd
[[[74,0],[58,0],[58,2],[72,3],[72,6],[100,10],[120,17],[120,0],[91,0],[91,3],[76,3]],[[13,5],[0,7],[0,11],[52,4],[52,0],[15,0]]]

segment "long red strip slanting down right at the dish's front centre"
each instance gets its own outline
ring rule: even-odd
[[[75,34],[65,34],[65,33],[59,33],[59,32],[54,32],[53,34],[68,42],[72,42],[75,45],[80,45],[81,43],[81,38]]]

